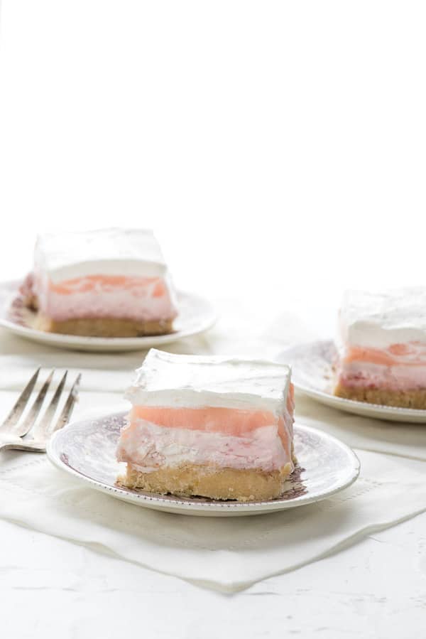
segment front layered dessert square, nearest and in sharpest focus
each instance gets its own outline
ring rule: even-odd
[[[288,366],[151,349],[126,397],[122,485],[239,501],[283,493],[294,468]]]

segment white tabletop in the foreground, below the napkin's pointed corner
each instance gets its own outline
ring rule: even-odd
[[[424,636],[426,515],[235,595],[0,522],[7,639]]]

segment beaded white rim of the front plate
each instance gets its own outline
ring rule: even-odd
[[[302,429],[308,432],[313,432],[322,439],[326,441],[332,441],[334,446],[339,446],[342,449],[348,458],[348,461],[351,463],[348,464],[348,473],[347,478],[344,483],[338,485],[334,488],[330,488],[326,490],[321,495],[312,495],[311,497],[305,495],[299,495],[293,500],[265,500],[265,501],[256,501],[256,502],[231,502],[231,501],[212,501],[209,503],[200,503],[200,502],[192,502],[190,498],[184,498],[182,500],[178,496],[175,495],[158,495],[158,493],[153,493],[153,496],[146,495],[144,493],[131,493],[126,488],[121,488],[119,486],[110,486],[102,483],[99,480],[91,478],[79,471],[76,471],[75,468],[71,468],[67,466],[65,462],[60,459],[60,456],[56,454],[55,445],[57,444],[57,440],[63,436],[63,433],[74,426],[79,426],[85,421],[93,420],[100,421],[102,419],[107,419],[111,417],[124,417],[126,414],[125,410],[121,410],[119,412],[112,412],[109,414],[101,414],[99,417],[86,417],[80,418],[78,420],[70,422],[59,431],[56,431],[53,436],[48,441],[46,446],[46,453],[50,463],[53,464],[60,471],[70,474],[71,476],[80,480],[80,482],[89,484],[95,490],[99,490],[102,493],[109,494],[115,498],[124,500],[128,503],[133,503],[136,505],[140,505],[144,508],[156,508],[157,510],[167,510],[168,512],[176,512],[182,514],[182,511],[186,511],[185,514],[191,515],[192,513],[197,515],[200,512],[203,515],[208,515],[209,513],[212,516],[219,514],[227,514],[227,515],[241,515],[246,512],[247,514],[262,514],[266,512],[275,512],[278,510],[289,510],[290,508],[297,508],[297,506],[308,505],[310,503],[316,503],[318,501],[322,501],[336,493],[339,493],[341,490],[345,488],[349,488],[359,477],[359,473],[361,470],[361,462],[359,461],[356,453],[351,449],[350,446],[345,444],[342,440],[338,439],[334,435],[326,433],[325,431],[321,431],[320,429],[313,428],[312,426],[307,426],[305,424],[299,424],[295,422],[295,429]],[[114,494],[115,493],[115,494]],[[119,493],[116,494],[116,493]],[[166,498],[167,497],[167,498]]]

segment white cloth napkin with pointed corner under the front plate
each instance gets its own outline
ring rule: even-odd
[[[224,592],[294,570],[426,510],[424,464],[357,451],[361,476],[317,504],[188,517],[123,503],[45,456],[0,453],[0,517]]]

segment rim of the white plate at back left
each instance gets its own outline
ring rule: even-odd
[[[6,289],[10,287],[10,294],[13,294],[12,287],[18,287],[22,283],[21,279],[1,280],[0,289]],[[197,300],[202,302],[209,309],[209,317],[204,319],[200,326],[197,328],[183,328],[182,331],[175,331],[175,333],[167,333],[165,335],[143,335],[141,337],[96,337],[90,335],[68,335],[67,333],[47,333],[45,331],[38,331],[36,328],[28,328],[28,326],[21,326],[12,320],[1,317],[0,315],[0,327],[5,328],[7,331],[20,335],[28,340],[50,343],[52,345],[68,345],[75,346],[75,348],[93,346],[96,348],[104,347],[117,350],[120,346],[124,348],[134,347],[135,350],[144,350],[150,348],[151,345],[168,344],[174,341],[178,341],[191,335],[198,335],[208,331],[212,328],[219,319],[219,315],[206,297],[193,293],[192,291],[184,291],[182,289],[176,289],[178,296],[185,296],[186,298]]]

